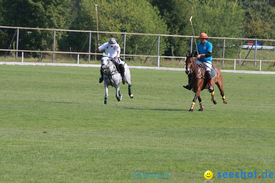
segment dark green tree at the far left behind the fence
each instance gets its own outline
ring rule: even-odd
[[[73,1],[71,0],[2,0],[2,22],[11,27],[39,27],[66,29],[71,20]],[[69,21],[70,22],[70,21]],[[6,42],[11,41],[14,29],[6,29],[8,36]],[[24,30],[20,29],[18,49],[44,50],[52,35],[52,31]],[[61,38],[64,32],[56,33],[56,40]],[[9,40],[9,41],[7,41]],[[8,43],[9,44],[9,43]],[[4,45],[7,48],[9,45]],[[1,46],[2,47],[2,46]],[[56,44],[56,47],[58,45]]]

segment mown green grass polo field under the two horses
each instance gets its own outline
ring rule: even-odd
[[[206,170],[213,182],[275,173],[274,75],[223,73],[228,104],[215,85],[218,104],[202,91],[205,109],[197,101],[192,113],[185,72],[130,71],[134,98],[121,84],[123,99],[109,87],[104,105],[99,68],[0,65],[0,182],[134,182],[145,170],[133,168],[198,182]]]

